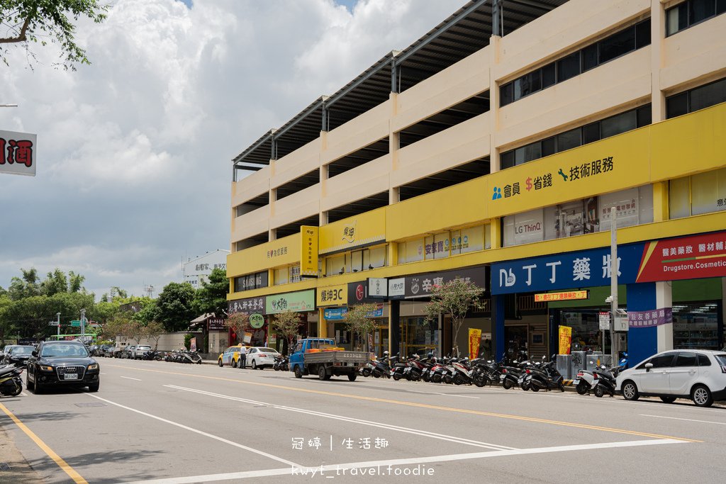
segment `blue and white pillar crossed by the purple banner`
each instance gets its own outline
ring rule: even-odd
[[[670,282],[627,284],[627,308],[632,311],[656,311],[672,308]],[[632,315],[631,315],[632,316]],[[649,327],[628,328],[628,358],[631,366],[655,353],[673,349],[673,320]]]

